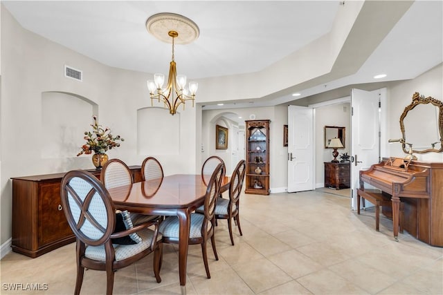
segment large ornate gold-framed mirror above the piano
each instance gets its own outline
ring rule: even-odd
[[[440,153],[443,151],[443,102],[433,97],[414,93],[413,102],[404,108],[400,116],[403,136],[401,147],[408,153]]]

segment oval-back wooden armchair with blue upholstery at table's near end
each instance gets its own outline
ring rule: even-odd
[[[132,229],[116,231],[116,210],[104,184],[87,171],[70,171],[62,179],[62,206],[76,237],[77,278],[74,294],[80,294],[84,269],[105,271],[106,294],[112,294],[114,272],[154,252],[154,274],[160,283],[163,249],[156,220]],[[148,227],[154,227],[150,229]],[[114,244],[114,239],[136,234],[141,240],[130,245]]]

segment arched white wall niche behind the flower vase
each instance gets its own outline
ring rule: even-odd
[[[98,114],[98,104],[75,93],[45,91],[41,114],[42,158],[74,158],[84,143],[84,131],[91,129],[92,116]]]

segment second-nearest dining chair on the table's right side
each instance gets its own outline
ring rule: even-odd
[[[240,160],[233,171],[233,175],[230,178],[228,191],[229,200],[226,198],[217,198],[217,205],[215,206],[216,221],[217,219],[228,220],[230,243],[232,245],[234,245],[232,221],[234,221],[237,225],[240,236],[243,236],[242,227],[240,227],[239,198],[240,194],[242,193],[245,172],[246,162],[244,160]],[[203,213],[204,207],[201,206],[195,211],[197,213]]]

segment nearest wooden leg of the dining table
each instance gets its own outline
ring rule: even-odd
[[[186,261],[188,260],[188,240],[190,231],[190,213],[188,209],[177,211],[179,217],[179,277],[180,285],[186,285]],[[182,287],[182,292],[183,292]],[[185,289],[186,292],[186,289]]]

